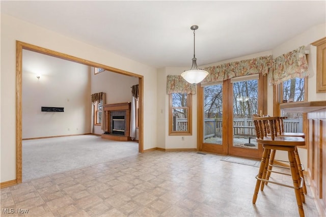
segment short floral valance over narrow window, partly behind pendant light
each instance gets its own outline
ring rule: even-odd
[[[196,94],[196,86],[186,82],[181,75],[167,76],[167,94]]]

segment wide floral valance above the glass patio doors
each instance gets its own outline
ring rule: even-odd
[[[203,82],[224,81],[233,77],[253,75],[262,73],[268,74],[271,67],[271,55],[257,58],[234,61],[219,66],[206,67],[209,74]]]

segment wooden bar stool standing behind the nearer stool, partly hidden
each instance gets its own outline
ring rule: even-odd
[[[254,116],[258,117],[257,114],[254,114]],[[267,115],[267,117],[269,117],[269,116]],[[275,117],[275,118],[276,118],[276,122],[275,122],[276,128],[274,128],[274,131],[273,132],[270,132],[269,125],[265,125],[266,126],[267,136],[270,136],[271,133],[274,133],[274,136],[282,136],[282,137],[283,136],[290,136],[290,137],[291,136],[294,136],[294,137],[302,137],[302,138],[305,138],[305,134],[304,133],[284,133],[283,119],[286,119],[287,117]],[[276,154],[276,150],[274,150],[274,149],[271,150],[270,157],[269,157],[269,162],[268,162],[267,173],[266,173],[266,177],[265,177],[265,179],[267,179],[267,180],[269,180],[269,177],[270,177],[270,174],[272,172],[273,166],[290,169],[289,167],[283,167],[283,166],[274,165],[275,154]],[[303,171],[305,171],[305,168],[304,168],[303,164],[301,164],[301,161],[300,161],[300,157],[299,157],[297,148],[295,148],[294,154],[295,154],[295,160],[296,160],[296,163],[297,163],[297,166],[298,166],[299,174],[300,174],[301,177],[304,178]],[[282,173],[282,174],[285,174],[285,173]],[[287,175],[287,174],[285,174],[285,175]],[[268,182],[262,182],[261,183],[261,186],[260,186],[261,191],[263,191],[264,185],[267,185],[267,183]],[[304,194],[307,194],[307,188],[306,188],[305,179],[304,179],[304,183],[303,183],[303,192],[304,192]],[[305,203],[305,199],[304,198],[303,198],[303,203]]]

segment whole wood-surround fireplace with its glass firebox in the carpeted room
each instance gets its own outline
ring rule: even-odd
[[[130,103],[117,103],[103,105],[105,118],[104,139],[129,141]]]

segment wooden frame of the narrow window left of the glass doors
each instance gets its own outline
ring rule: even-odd
[[[172,94],[169,94],[169,136],[184,136],[193,135],[193,105],[192,105],[192,94],[187,94],[187,107],[172,107]],[[187,114],[187,131],[173,131],[173,109],[174,108],[186,108],[188,109]]]

